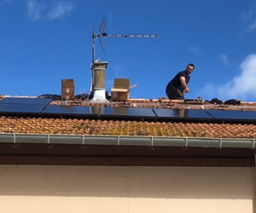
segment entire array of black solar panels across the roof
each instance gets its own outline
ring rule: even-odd
[[[81,107],[49,105],[51,99],[4,98],[0,114],[94,118],[147,118],[162,120],[256,121],[256,112],[229,110],[160,109],[135,107]]]

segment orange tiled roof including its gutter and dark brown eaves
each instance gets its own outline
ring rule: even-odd
[[[248,111],[240,105],[129,100],[49,105]],[[253,120],[0,115],[0,164],[254,166]],[[21,144],[21,146],[20,146]]]

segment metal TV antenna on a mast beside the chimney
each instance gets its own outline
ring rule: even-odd
[[[105,54],[105,49],[104,49],[104,45],[102,43],[102,37],[157,37],[157,35],[131,35],[131,34],[108,34],[106,32],[104,32],[105,27],[107,26],[107,23],[105,21],[105,19],[102,19],[102,24],[99,28],[99,32],[98,34],[96,34],[95,29],[92,32],[92,63],[91,63],[91,71],[92,71],[92,77],[91,77],[91,87],[90,87],[90,93],[94,91],[95,89],[95,67],[96,64],[98,64],[99,62],[101,62],[100,59],[95,60],[96,58],[96,38],[99,38],[100,43],[102,45],[102,50],[103,53]]]

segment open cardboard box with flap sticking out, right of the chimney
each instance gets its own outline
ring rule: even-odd
[[[130,98],[130,89],[135,88],[137,84],[130,86],[129,78],[114,78],[111,89],[112,101],[127,101]]]

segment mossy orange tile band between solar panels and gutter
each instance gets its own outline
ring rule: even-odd
[[[2,116],[0,133],[256,138],[256,125]]]

